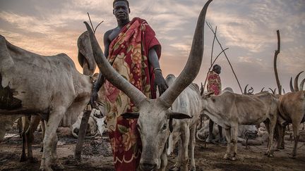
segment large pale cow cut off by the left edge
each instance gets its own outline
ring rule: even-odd
[[[56,129],[65,113],[80,113],[92,89],[68,56],[40,56],[10,44],[0,35],[0,115],[41,113],[47,120],[41,170],[61,169]]]

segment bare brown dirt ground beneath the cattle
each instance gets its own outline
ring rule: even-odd
[[[17,133],[13,129],[6,137],[11,137]],[[86,139],[83,146],[83,162],[77,164],[73,160],[73,152],[76,141],[70,134],[68,128],[59,128],[59,143],[57,144],[57,154],[59,160],[64,165],[64,170],[114,170],[112,164],[112,151],[107,135]],[[286,139],[289,138],[287,135]],[[19,157],[22,149],[22,140],[19,136],[6,139],[0,144],[0,170],[39,170],[40,142],[42,133],[35,132],[35,142],[33,145],[33,155],[38,159],[38,163],[20,163]],[[219,144],[203,144],[197,141],[195,148],[196,169],[197,170],[305,170],[305,146],[304,142],[299,142],[297,149],[297,159],[289,158],[292,152],[292,141],[286,140],[284,150],[275,151],[274,158],[264,155],[266,146],[238,146],[238,160],[224,160],[226,146]],[[174,155],[169,156],[168,167],[174,165]]]

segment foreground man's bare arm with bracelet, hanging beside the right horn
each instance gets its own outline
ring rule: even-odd
[[[159,93],[161,95],[168,88],[168,85],[165,82],[165,79],[162,75],[162,70],[160,69],[160,63],[157,57],[157,52],[155,51],[154,48],[151,48],[149,50],[148,59],[150,61],[150,64],[152,65],[153,72],[155,73],[155,82],[154,82],[153,90],[157,91],[157,87],[158,87]]]

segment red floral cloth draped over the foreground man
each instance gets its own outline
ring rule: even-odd
[[[148,51],[155,47],[160,58],[161,46],[148,23],[133,18],[109,46],[108,61],[126,80],[148,96],[152,94],[154,75],[148,61]],[[133,102],[110,82],[102,87],[107,110],[107,127],[116,170],[136,170],[140,162],[141,141],[137,120],[124,120],[122,113],[138,111]]]

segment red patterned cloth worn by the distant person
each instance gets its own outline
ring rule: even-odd
[[[214,92],[215,95],[221,92],[220,76],[213,70],[208,75],[208,92]]]

